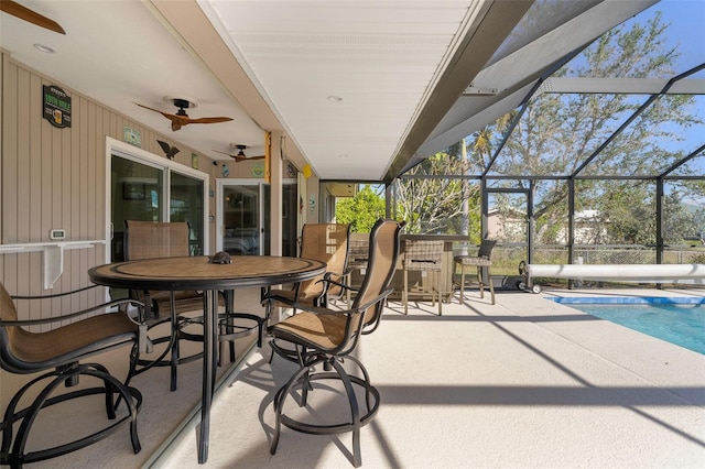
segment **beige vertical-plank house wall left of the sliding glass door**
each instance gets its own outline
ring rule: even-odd
[[[160,127],[160,132],[165,134],[158,133],[48,77],[28,70],[7,55],[2,55],[2,59],[0,242],[47,241],[52,228],[65,229],[69,241],[105,239],[107,214],[104,209],[110,189],[106,187],[106,164],[110,164],[105,155],[106,135],[121,141],[127,124],[141,133],[143,150],[164,157],[156,140],[172,142],[167,124],[163,129]],[[42,118],[42,85],[48,84],[61,86],[72,97],[70,129],[56,129]],[[191,165],[192,150],[181,150],[176,161]],[[202,171],[218,170],[207,167],[205,163],[202,161]],[[53,292],[88,285],[87,271],[104,262],[106,249],[109,244],[65,251],[64,274]],[[0,254],[0,281],[13,294],[50,293],[43,291],[42,254],[39,252]],[[78,310],[104,297],[105,291],[96,288],[61,301],[40,302],[44,304],[33,317]],[[25,314],[22,317],[26,317],[30,303],[37,305],[37,302],[18,304],[20,314]]]

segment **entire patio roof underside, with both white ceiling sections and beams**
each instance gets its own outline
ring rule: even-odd
[[[264,130],[281,131],[286,156],[300,167],[311,163],[322,178],[389,181],[511,109],[518,89],[653,0],[538,1],[565,15],[552,15],[545,31],[531,25],[533,50],[520,44],[494,62],[531,1],[19,3],[66,35],[0,13],[0,47],[173,142],[217,160],[227,156],[214,150],[232,152],[230,143],[261,154]],[[463,97],[476,78],[475,86],[500,84],[498,94]],[[234,120],[172,132],[169,120],[134,105],[175,112],[165,96],[195,99],[192,118]]]

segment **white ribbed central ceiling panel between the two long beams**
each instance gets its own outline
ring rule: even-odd
[[[210,0],[202,7],[321,176],[365,179],[383,176],[481,3]]]

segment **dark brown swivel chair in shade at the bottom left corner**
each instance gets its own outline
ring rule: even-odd
[[[107,308],[122,308],[127,305],[141,307],[142,305],[132,299],[120,299],[46,319],[18,320],[17,318],[17,309],[13,301],[55,298],[85,290],[87,288],[44,296],[10,296],[0,283],[0,366],[11,373],[20,374],[51,370],[24,384],[8,403],[2,423],[0,424],[0,430],[2,432],[0,465],[19,468],[24,463],[55,458],[93,445],[112,435],[126,425],[130,426],[130,439],[133,451],[137,454],[141,450],[137,428],[137,415],[142,404],[142,395],[137,389],[127,385],[127,381],[134,373],[139,357],[138,345],[140,343],[140,327],[137,323],[132,321],[126,313],[104,313],[91,317],[86,317],[86,315],[98,310],[105,312]],[[118,318],[116,315],[123,315],[124,318]],[[23,327],[26,326],[40,326],[79,317],[83,319],[50,331],[30,332],[23,329]],[[70,346],[72,342],[67,342],[72,337],[77,337],[77,334],[85,335],[88,330],[95,334],[95,341],[76,343],[75,347]],[[21,340],[25,341],[24,349],[23,346],[19,343]],[[51,350],[35,350],[32,353],[28,351],[26,347],[31,346],[26,343],[40,343],[43,341],[61,341],[63,343],[62,348],[65,350],[59,352],[52,348]],[[79,363],[79,360],[129,343],[132,343],[132,349],[126,383],[112,377],[106,367],[100,363]],[[80,375],[96,378],[102,382],[102,386],[80,389],[55,395],[55,391],[62,384],[66,388],[78,384]],[[22,401],[29,391],[35,389],[36,384],[46,380],[50,380],[48,384],[44,385],[44,388],[37,392],[36,397],[31,404],[18,410],[20,401]],[[94,394],[105,394],[105,406],[108,419],[116,419],[116,408],[121,400],[127,403],[127,415],[107,427],[79,439],[50,448],[30,452],[26,451],[26,441],[41,410]],[[17,434],[14,434],[14,427],[18,424],[19,427]]]

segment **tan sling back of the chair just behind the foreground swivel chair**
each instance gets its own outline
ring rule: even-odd
[[[306,223],[301,236],[301,257],[325,262],[326,273],[339,277],[348,262],[350,226],[344,223]],[[302,282],[300,295],[323,292],[324,275]]]

